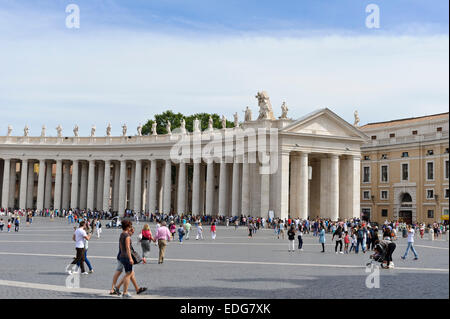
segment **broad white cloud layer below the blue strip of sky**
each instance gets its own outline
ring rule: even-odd
[[[156,33],[66,30],[30,38],[0,35],[0,134],[30,125],[38,135],[75,123],[87,135],[128,123],[131,131],[170,108],[232,118],[257,113],[258,90],[276,114],[329,107],[362,124],[445,112],[448,36],[194,38]]]

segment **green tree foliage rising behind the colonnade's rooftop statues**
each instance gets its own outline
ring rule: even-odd
[[[206,130],[208,128],[209,117],[213,119],[213,128],[221,129],[222,128],[222,120],[221,117],[216,113],[197,113],[193,115],[184,115],[181,113],[174,113],[170,110],[162,113],[155,114],[154,119],[148,120],[147,123],[142,127],[142,135],[150,135],[152,134],[152,125],[156,122],[156,132],[158,134],[167,134],[167,123],[170,121],[171,130],[175,130],[176,128],[181,127],[181,120],[184,118],[186,121],[186,130],[188,132],[194,131],[194,120],[198,118],[200,121],[201,130]],[[234,127],[234,123],[227,120],[227,127]]]

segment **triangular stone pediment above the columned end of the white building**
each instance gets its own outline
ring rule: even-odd
[[[285,127],[283,132],[363,138],[367,136],[329,109],[316,111]]]

